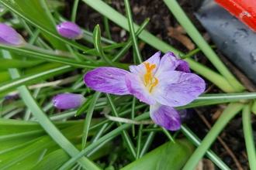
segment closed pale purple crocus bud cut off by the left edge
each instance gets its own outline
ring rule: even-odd
[[[23,46],[26,41],[12,27],[0,23],[0,44],[6,46]]]

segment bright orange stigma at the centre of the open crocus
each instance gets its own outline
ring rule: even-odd
[[[155,64],[150,65],[150,63],[145,63],[147,73],[144,74],[144,81],[147,90],[151,93],[153,87],[158,83],[158,80],[155,76],[152,75],[151,71],[154,70],[157,66]]]

